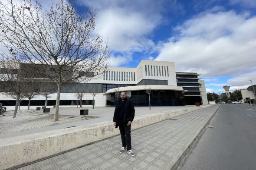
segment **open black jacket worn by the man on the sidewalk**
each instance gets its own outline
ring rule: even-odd
[[[116,107],[115,107],[115,113],[114,113],[114,117],[113,117],[113,121],[116,122],[116,125],[115,125],[115,128],[117,128],[119,126],[119,120],[118,120],[118,117],[119,117],[119,104],[120,104],[120,101],[121,99],[118,101]],[[134,116],[135,116],[135,109],[134,109],[134,106],[132,104],[132,102],[126,98],[125,100],[125,116],[124,116],[124,122],[125,122],[125,125],[128,123],[128,121],[133,121],[134,119]]]

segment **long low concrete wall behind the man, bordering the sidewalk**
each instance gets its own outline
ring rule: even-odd
[[[167,120],[200,107],[136,116],[132,130]],[[40,159],[118,135],[112,121],[0,139],[0,169],[17,168]]]

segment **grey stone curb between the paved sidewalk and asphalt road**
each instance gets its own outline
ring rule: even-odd
[[[221,106],[221,105],[220,105]],[[205,123],[203,126],[198,129],[198,131],[194,134],[194,136],[187,142],[187,144],[184,146],[184,148],[177,154],[176,157],[171,161],[171,163],[166,167],[167,170],[176,170],[176,168],[181,163],[182,159],[191,151],[194,149],[194,144],[196,144],[200,138],[203,135],[203,132],[206,130],[207,125],[210,123],[213,116],[217,113],[220,106],[217,108],[217,110],[210,116],[207,123]]]

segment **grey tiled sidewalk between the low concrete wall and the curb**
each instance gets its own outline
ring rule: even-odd
[[[19,168],[19,170],[169,169],[197,138],[220,104],[131,132],[131,157],[119,154],[120,135]]]

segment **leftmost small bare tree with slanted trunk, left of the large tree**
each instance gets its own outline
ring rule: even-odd
[[[31,82],[20,73],[20,62],[4,57],[0,59],[0,91],[16,99],[13,118],[16,117],[20,99],[31,92]]]

